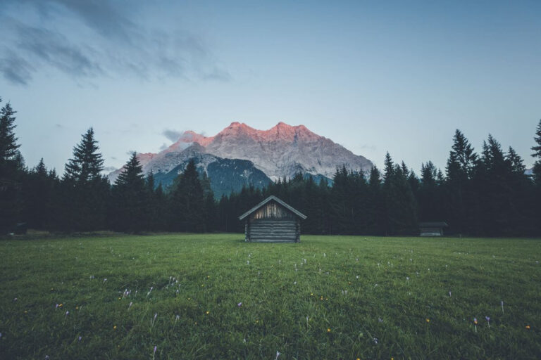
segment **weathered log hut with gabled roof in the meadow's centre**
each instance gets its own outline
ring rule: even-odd
[[[244,240],[259,243],[299,243],[306,215],[271,195],[239,217]]]

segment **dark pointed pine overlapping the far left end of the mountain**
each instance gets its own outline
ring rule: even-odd
[[[118,175],[112,193],[113,229],[129,233],[147,229],[147,188],[136,153],[132,153],[123,172]]]

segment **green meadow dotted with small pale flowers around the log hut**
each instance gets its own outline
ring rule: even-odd
[[[541,240],[242,238],[1,240],[0,358],[541,357]]]

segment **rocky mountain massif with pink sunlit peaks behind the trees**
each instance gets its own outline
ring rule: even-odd
[[[214,176],[225,179],[226,174],[240,176],[240,169],[243,173],[246,170],[246,174],[254,175],[253,179],[250,176],[243,176],[242,179],[237,177],[231,184],[244,181],[245,185],[254,184],[257,187],[265,183],[261,174],[255,171],[257,169],[275,181],[279,177],[290,178],[298,172],[316,179],[322,176],[332,179],[337,166],[345,165],[356,171],[368,171],[372,166],[370,160],[354,155],[324,136],[314,134],[304,125],[290,126],[284,122],[268,130],[257,130],[244,123],[232,122],[215,136],[185,131],[178,141],[160,153],[144,153],[137,157],[145,173],[152,171],[163,180],[178,172],[190,158],[197,158],[199,168],[206,171],[211,180],[213,176],[209,174],[209,165],[214,164],[211,166]],[[224,160],[247,160],[249,163]],[[239,168],[228,169],[230,166]],[[119,172],[120,169],[109,174],[111,181],[116,179]],[[169,177],[167,174],[170,174]],[[224,189],[223,193],[226,192]]]

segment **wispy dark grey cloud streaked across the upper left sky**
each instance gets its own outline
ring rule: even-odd
[[[0,72],[20,85],[48,68],[79,80],[130,75],[148,81],[230,81],[197,34],[171,31],[161,22],[142,25],[153,23],[141,18],[145,6],[145,1],[7,0],[0,13],[5,29]]]

